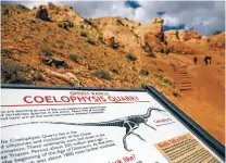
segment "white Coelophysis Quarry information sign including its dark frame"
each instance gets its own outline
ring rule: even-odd
[[[216,163],[224,147],[147,90],[2,86],[4,163]]]

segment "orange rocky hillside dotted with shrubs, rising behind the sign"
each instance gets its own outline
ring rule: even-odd
[[[49,22],[35,18],[37,9],[1,5],[1,83],[152,85],[224,143],[225,34],[202,37],[194,30],[164,32],[160,17],[140,24],[122,17],[87,20],[52,3],[47,10]],[[211,65],[203,64],[204,55],[213,58]],[[177,68],[181,64],[188,66],[193,91],[179,91]],[[213,100],[212,92],[219,98]],[[205,120],[196,114],[196,103],[210,113]]]

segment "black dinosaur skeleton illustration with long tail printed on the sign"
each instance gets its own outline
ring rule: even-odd
[[[108,122],[97,122],[97,123],[66,123],[66,122],[29,122],[29,123],[21,123],[21,124],[13,124],[13,125],[8,125],[8,126],[1,126],[1,128],[5,127],[12,127],[12,126],[18,126],[18,125],[27,125],[27,124],[62,124],[62,125],[77,125],[77,126],[114,126],[114,127],[125,127],[126,128],[126,134],[123,137],[123,145],[125,150],[127,151],[133,151],[127,148],[127,142],[126,138],[129,135],[135,135],[142,141],[146,141],[140,135],[134,133],[135,129],[139,127],[140,124],[145,124],[146,126],[156,130],[153,126],[150,126],[148,124],[148,118],[151,116],[152,111],[158,111],[158,112],[165,112],[164,110],[160,110],[156,108],[149,108],[147,113],[143,115],[131,115],[131,116],[126,116],[123,118],[116,118],[113,121],[108,121]],[[164,114],[166,115],[166,114]],[[168,116],[168,115],[166,115]]]

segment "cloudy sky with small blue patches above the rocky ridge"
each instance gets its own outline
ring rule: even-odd
[[[224,1],[52,1],[73,7],[84,17],[122,16],[140,23],[164,18],[164,29],[194,29],[203,36],[225,30]],[[15,2],[14,2],[15,3]],[[46,1],[20,1],[29,8]]]

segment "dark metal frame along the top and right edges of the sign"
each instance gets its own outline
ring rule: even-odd
[[[11,85],[2,84],[1,89],[48,89],[48,90],[95,90],[95,91],[139,91],[148,92],[166,110],[168,110],[186,128],[193,133],[206,147],[225,161],[225,147],[213,136],[198,125],[192,118],[186,115],[174,103],[161,95],[154,87],[148,86],[146,89],[115,89],[115,88],[92,88],[92,87],[62,87],[62,86],[35,86],[35,85]],[[1,95],[3,96],[3,95]]]

